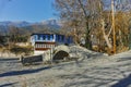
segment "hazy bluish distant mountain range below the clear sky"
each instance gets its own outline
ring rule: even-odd
[[[43,22],[36,22],[36,23],[29,23],[26,21],[21,22],[11,22],[11,21],[4,21],[0,22],[0,33],[8,33],[10,26],[15,26],[19,28],[23,28],[25,30],[43,30],[43,29],[60,29],[61,22],[57,20],[47,20]]]

